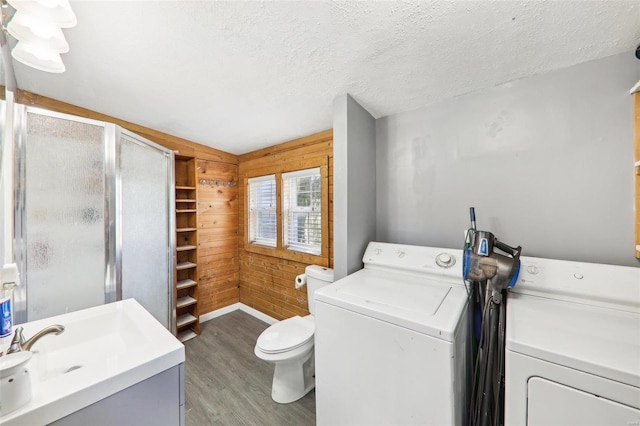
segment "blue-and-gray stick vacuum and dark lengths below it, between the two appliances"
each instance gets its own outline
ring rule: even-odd
[[[491,232],[478,231],[473,207],[470,216],[471,227],[465,238],[463,275],[473,301],[475,333],[472,334],[477,338],[477,354],[469,424],[499,426],[504,423],[507,289],[513,287],[518,279],[522,247],[510,247]]]

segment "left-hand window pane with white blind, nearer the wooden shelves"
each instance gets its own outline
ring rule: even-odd
[[[276,177],[248,179],[249,242],[276,247]]]

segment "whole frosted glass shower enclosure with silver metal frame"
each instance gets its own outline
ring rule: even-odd
[[[135,298],[174,328],[173,153],[16,105],[16,323]]]

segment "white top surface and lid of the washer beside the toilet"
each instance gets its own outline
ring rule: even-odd
[[[361,269],[316,291],[328,303],[452,342],[467,292],[451,284],[402,272]],[[316,305],[317,306],[317,305]]]

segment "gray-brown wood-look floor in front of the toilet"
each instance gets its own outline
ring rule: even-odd
[[[267,324],[234,311],[201,324],[185,342],[185,423],[315,425],[315,391],[291,404],[271,399],[273,364],[253,353]]]

